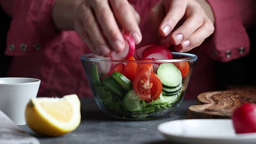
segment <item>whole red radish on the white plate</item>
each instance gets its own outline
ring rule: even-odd
[[[256,104],[246,103],[239,106],[232,115],[236,133],[256,132]]]

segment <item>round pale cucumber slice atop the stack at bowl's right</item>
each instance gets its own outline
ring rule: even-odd
[[[160,64],[156,74],[166,88],[176,88],[182,82],[180,70],[172,63]]]

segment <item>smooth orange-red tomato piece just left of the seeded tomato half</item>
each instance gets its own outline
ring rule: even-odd
[[[130,56],[128,60],[135,60],[133,56]],[[123,74],[133,82],[135,76],[136,76],[136,70],[137,70],[137,64],[135,62],[128,62],[124,66]]]

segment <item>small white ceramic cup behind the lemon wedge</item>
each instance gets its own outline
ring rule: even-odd
[[[0,110],[18,126],[25,125],[26,105],[40,86],[35,78],[0,78]]]

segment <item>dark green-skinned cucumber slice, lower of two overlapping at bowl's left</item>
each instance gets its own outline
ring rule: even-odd
[[[111,76],[106,76],[103,80],[102,80],[102,84],[104,86],[108,86],[112,92],[116,93],[118,95],[119,98],[123,98],[124,97],[124,88],[119,84],[119,82],[117,82],[114,78],[112,78]]]

